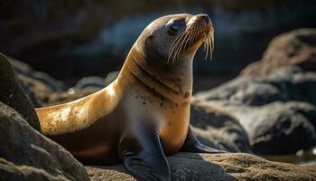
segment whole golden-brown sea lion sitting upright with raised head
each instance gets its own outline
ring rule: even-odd
[[[37,109],[42,132],[83,163],[123,161],[141,180],[171,180],[165,155],[218,153],[189,125],[192,61],[213,48],[207,14],[172,14],[149,24],[107,88],[83,99]]]

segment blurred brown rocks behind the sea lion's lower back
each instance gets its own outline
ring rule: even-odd
[[[13,58],[8,60],[13,63],[17,80],[37,108],[77,100],[105,87],[104,79],[90,77],[78,81],[74,88],[66,90],[62,81],[55,80],[49,74],[34,71],[30,65]]]

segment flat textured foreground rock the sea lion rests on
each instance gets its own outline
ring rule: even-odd
[[[315,167],[267,161],[249,154],[178,153],[168,157],[172,180],[314,180]],[[122,165],[86,167],[93,180],[134,181]]]

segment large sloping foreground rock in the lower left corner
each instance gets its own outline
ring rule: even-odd
[[[89,180],[85,168],[68,151],[2,102],[0,132],[0,180]]]

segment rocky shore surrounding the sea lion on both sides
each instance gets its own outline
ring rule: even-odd
[[[195,94],[191,125],[200,141],[229,152],[260,155],[314,148],[315,32],[300,29],[276,37],[261,61],[235,79]],[[121,165],[83,167],[67,150],[42,136],[33,111],[33,104],[53,105],[100,90],[117,72],[106,80],[83,79],[67,88],[50,75],[8,58],[14,77],[7,58],[0,58],[1,180],[135,180]],[[168,159],[173,180],[316,180],[316,167],[271,162],[249,154],[179,153]]]

